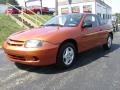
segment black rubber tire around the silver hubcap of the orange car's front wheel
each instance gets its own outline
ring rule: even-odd
[[[73,62],[70,64],[70,65],[66,65],[63,61],[63,53],[64,53],[64,50],[67,48],[67,47],[71,47],[73,50],[74,50],[74,59],[73,59]],[[66,68],[69,68],[71,67],[72,65],[74,65],[75,61],[77,59],[77,49],[75,48],[75,45],[72,44],[72,43],[64,43],[59,51],[58,51],[58,54],[57,54],[57,62],[56,62],[56,67],[57,68],[60,68],[60,69],[66,69]]]

